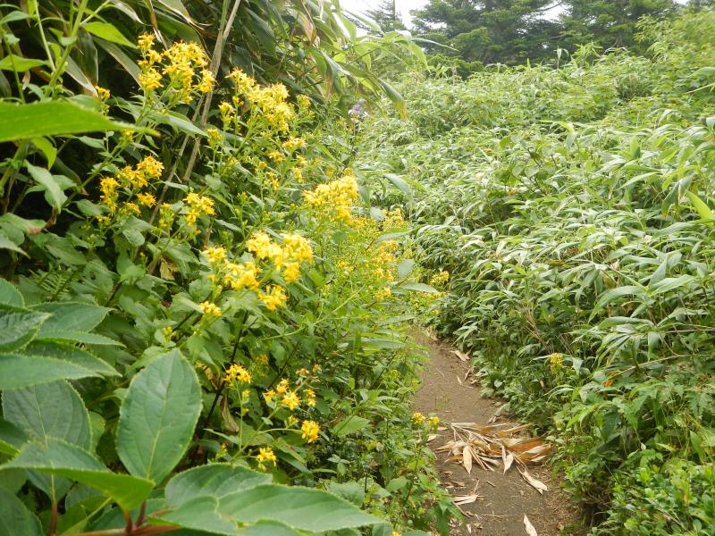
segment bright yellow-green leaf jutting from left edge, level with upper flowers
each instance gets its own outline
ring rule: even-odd
[[[101,113],[67,101],[44,101],[31,105],[0,103],[0,142],[124,129],[136,130],[130,124],[111,121]]]

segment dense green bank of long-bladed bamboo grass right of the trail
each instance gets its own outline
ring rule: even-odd
[[[486,391],[550,434],[596,533],[715,526],[715,13],[401,86],[357,168],[450,272],[434,309]]]

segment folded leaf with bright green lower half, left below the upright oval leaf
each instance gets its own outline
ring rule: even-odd
[[[4,468],[27,469],[62,476],[102,491],[124,509],[138,507],[154,488],[154,482],[112,473],[86,450],[63,440],[50,439],[46,444],[29,442],[20,454]]]

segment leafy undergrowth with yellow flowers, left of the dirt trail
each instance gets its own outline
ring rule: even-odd
[[[341,114],[414,45],[353,30],[0,5],[0,534],[447,531],[397,299],[432,289]]]

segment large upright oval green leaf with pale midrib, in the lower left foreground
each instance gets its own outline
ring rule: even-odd
[[[131,474],[161,482],[189,447],[201,412],[193,367],[178,351],[131,381],[119,412],[117,453]]]

